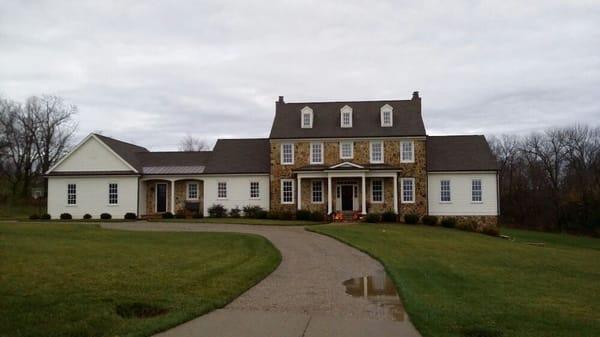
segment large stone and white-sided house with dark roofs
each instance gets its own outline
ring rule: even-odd
[[[427,136],[409,100],[287,103],[268,139],[152,152],[90,134],[48,172],[57,217],[261,206],[332,214],[393,211],[495,225],[497,164],[483,136]]]

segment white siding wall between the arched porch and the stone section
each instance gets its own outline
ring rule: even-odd
[[[256,205],[264,210],[269,210],[269,176],[206,176],[204,180],[204,215],[208,216],[208,208],[213,204],[221,204],[230,210],[231,208]],[[250,182],[259,182],[258,199],[250,198]],[[227,183],[227,198],[217,198],[217,184],[219,182]]]

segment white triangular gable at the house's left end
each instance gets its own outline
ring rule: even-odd
[[[90,137],[54,171],[131,171],[131,168],[99,140]]]

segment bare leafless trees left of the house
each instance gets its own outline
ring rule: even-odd
[[[32,96],[25,103],[0,98],[0,177],[13,199],[28,197],[32,184],[67,152],[76,113],[58,96]]]

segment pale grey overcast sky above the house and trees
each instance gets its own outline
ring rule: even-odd
[[[429,134],[600,121],[596,1],[0,0],[0,95],[152,150],[266,137],[275,100],[409,99]]]

